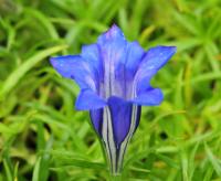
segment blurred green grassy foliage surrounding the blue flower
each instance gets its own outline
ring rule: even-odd
[[[49,57],[80,53],[113,23],[144,49],[176,45],[151,84],[124,180],[221,180],[220,0],[0,0],[0,181],[108,180],[78,87]]]

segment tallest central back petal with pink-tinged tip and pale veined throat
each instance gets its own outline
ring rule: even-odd
[[[124,89],[117,82],[117,67],[125,62],[127,42],[123,32],[116,25],[113,25],[107,32],[103,33],[98,40],[101,58],[104,68],[104,96],[123,96]]]

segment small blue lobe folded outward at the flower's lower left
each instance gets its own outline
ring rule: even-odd
[[[82,89],[75,106],[78,110],[94,110],[106,106],[106,102],[92,89]]]

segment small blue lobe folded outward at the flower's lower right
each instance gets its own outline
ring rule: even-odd
[[[145,93],[139,94],[131,102],[136,105],[157,106],[164,99],[164,94],[160,88],[150,88]]]

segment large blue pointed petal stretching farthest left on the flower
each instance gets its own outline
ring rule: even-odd
[[[62,76],[75,79],[81,88],[96,91],[96,77],[81,56],[57,56],[52,57],[50,62]]]

